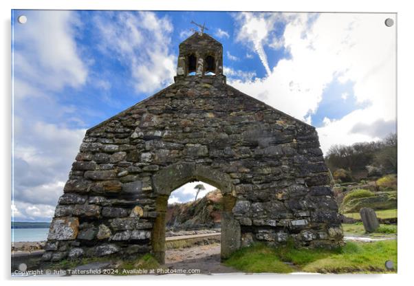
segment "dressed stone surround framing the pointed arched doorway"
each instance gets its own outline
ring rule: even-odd
[[[153,225],[152,248],[155,258],[164,263],[165,228],[168,197],[171,192],[190,181],[204,181],[215,186],[223,195],[221,212],[221,258],[226,259],[240,247],[240,224],[232,214],[235,206],[235,190],[225,173],[195,163],[179,163],[163,168],[153,175],[153,188],[157,195],[157,217]]]

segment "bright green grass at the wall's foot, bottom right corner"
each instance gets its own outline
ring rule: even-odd
[[[395,269],[386,270],[384,263],[393,261]],[[292,263],[288,265],[287,263]],[[296,249],[292,245],[272,248],[255,243],[238,250],[226,265],[243,272],[260,273],[385,273],[397,270],[397,241],[373,243],[348,242],[334,250]]]

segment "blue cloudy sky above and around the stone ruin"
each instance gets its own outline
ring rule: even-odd
[[[396,116],[387,17],[12,11],[15,219],[50,220],[85,130],[173,83],[192,20],[223,44],[228,84],[316,126],[323,151],[379,140]]]

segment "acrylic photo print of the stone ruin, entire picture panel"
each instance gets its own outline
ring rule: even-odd
[[[12,10],[12,276],[397,272],[396,27]]]

